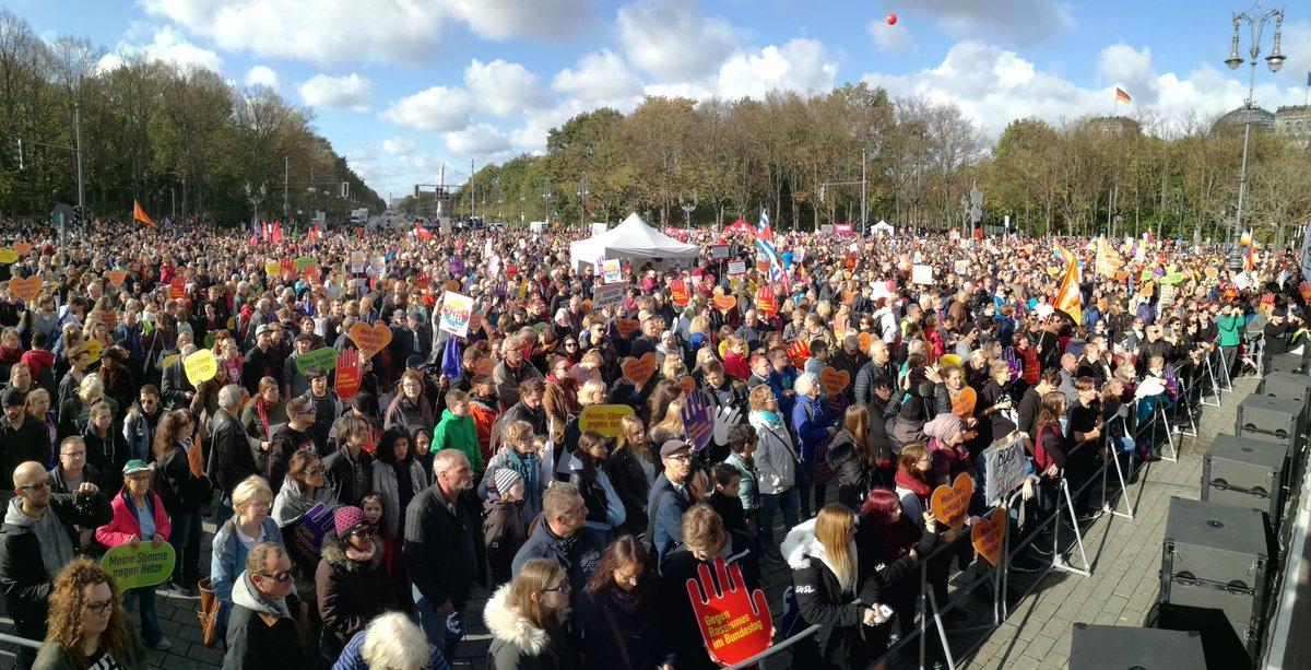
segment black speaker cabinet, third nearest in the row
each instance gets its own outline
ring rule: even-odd
[[[1202,456],[1202,500],[1265,511],[1280,526],[1287,450],[1219,433]]]

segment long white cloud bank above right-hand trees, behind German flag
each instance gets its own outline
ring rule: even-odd
[[[1116,111],[1133,115],[1145,108],[1159,109],[1165,119],[1193,114],[1200,121],[1242,105],[1245,81],[1210,64],[1179,75],[1159,73],[1146,49],[1112,45],[1097,59],[1105,81],[1101,88],[1086,88],[1050,72],[1042,72],[1015,51],[983,42],[960,42],[941,64],[907,75],[868,73],[871,85],[886,88],[893,96],[922,96],[935,102],[952,102],[974,119],[988,138],[998,138],[1007,123],[1036,117],[1050,123]],[[1114,85],[1134,96],[1134,105],[1116,109]],[[1297,87],[1278,87],[1266,79],[1256,88],[1256,100],[1266,109],[1298,104]]]

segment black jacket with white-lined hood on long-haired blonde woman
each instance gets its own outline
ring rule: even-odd
[[[815,636],[818,658],[812,658],[809,665],[864,667],[868,658],[860,637],[860,621],[865,606],[856,598],[859,565],[852,565],[852,583],[843,589],[825,545],[815,538],[815,519],[788,531],[780,552],[792,568],[793,593],[801,618],[819,627]],[[859,562],[855,542],[848,545],[848,552],[852,562]]]

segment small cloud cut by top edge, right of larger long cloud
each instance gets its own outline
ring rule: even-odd
[[[576,34],[595,16],[591,0],[447,0],[447,10],[488,39]]]

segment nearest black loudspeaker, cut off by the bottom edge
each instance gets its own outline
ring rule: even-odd
[[[1206,667],[1202,636],[1127,625],[1074,624],[1070,670],[1198,670]]]

